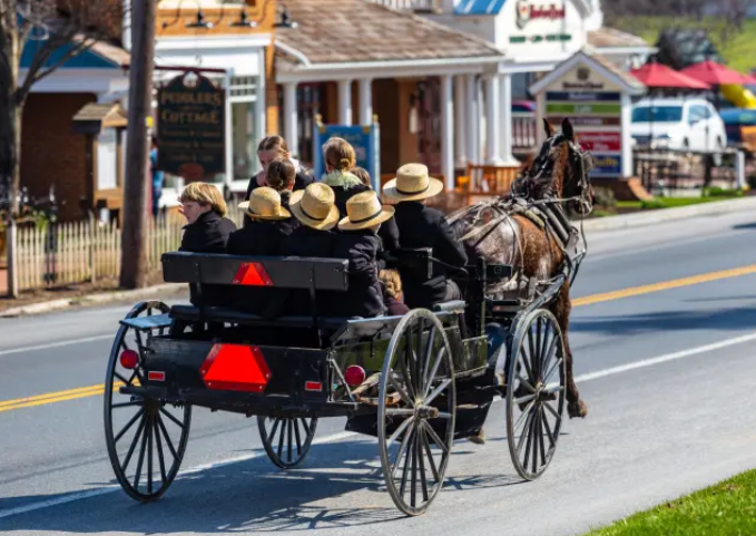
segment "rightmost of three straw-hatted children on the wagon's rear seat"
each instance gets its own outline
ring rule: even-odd
[[[353,195],[346,202],[346,217],[338,222],[341,233],[336,235],[333,254],[350,262],[350,289],[336,302],[337,314],[373,318],[385,313],[377,265],[381,238],[376,233],[393,215],[394,207],[381,205],[373,191]]]

